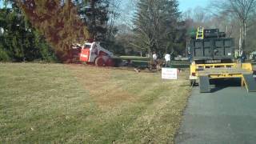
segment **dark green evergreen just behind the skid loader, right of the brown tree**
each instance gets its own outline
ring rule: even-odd
[[[122,54],[116,40],[118,29],[114,26],[119,16],[118,0],[75,0],[80,17],[90,32],[90,39],[105,42],[105,48]]]

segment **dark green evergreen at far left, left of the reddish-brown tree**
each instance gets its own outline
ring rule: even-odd
[[[5,1],[7,3],[7,1]],[[37,39],[38,31],[22,15],[17,3],[8,1],[9,5],[0,10],[0,61],[53,61],[54,54],[44,38]],[[43,46],[38,46],[38,44]],[[45,57],[47,52],[48,57]]]

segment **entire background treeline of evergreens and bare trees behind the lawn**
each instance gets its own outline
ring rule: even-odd
[[[0,1],[0,61],[70,62],[71,45],[88,39],[117,55],[185,56],[198,26],[226,31],[247,53],[256,45],[255,0],[212,0],[183,13],[178,0]]]

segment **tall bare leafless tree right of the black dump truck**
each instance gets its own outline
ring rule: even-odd
[[[239,50],[246,48],[246,32],[250,26],[250,18],[255,13],[256,0],[213,0],[215,12],[226,13],[230,17],[237,18],[241,27],[241,45]]]

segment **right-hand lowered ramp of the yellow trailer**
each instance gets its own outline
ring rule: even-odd
[[[256,80],[253,74],[242,74],[243,82],[248,92],[256,92]]]

